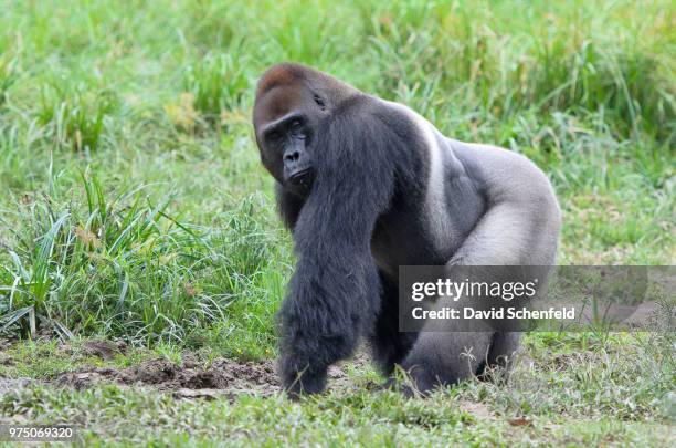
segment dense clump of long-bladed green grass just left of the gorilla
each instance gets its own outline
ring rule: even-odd
[[[260,199],[202,228],[166,212],[170,195],[151,204],[148,186],[106,196],[83,174],[80,187],[84,208],[35,198],[19,211],[24,228],[10,230],[15,241],[0,271],[2,330],[181,342],[214,322],[247,326],[233,303],[264,300],[275,258],[273,235],[253,219]]]

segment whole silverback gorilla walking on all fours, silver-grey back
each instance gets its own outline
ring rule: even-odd
[[[511,355],[517,333],[400,332],[398,268],[553,264],[560,210],[539,168],[297,64],[263,74],[253,122],[298,259],[278,314],[292,397],[321,392],[362,336],[421,392]]]

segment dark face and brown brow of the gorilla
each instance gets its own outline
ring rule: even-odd
[[[254,108],[256,140],[265,168],[284,188],[305,197],[315,178],[315,129],[326,113],[321,95],[300,85],[266,92]]]

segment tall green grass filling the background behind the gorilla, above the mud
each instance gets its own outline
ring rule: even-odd
[[[289,240],[250,116],[285,60],[534,159],[563,207],[562,263],[673,263],[674,15],[665,0],[10,1],[0,325],[270,348]]]

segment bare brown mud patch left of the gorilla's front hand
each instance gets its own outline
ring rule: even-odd
[[[240,393],[270,396],[279,392],[272,361],[254,363],[226,358],[216,358],[210,364],[189,360],[182,365],[158,358],[120,369],[99,367],[66,372],[57,375],[53,383],[76,389],[102,383],[118,383],[127,386],[147,385],[158,390],[175,392],[176,396],[187,398],[209,398],[218,394],[230,396]],[[187,390],[201,390],[201,393]]]

